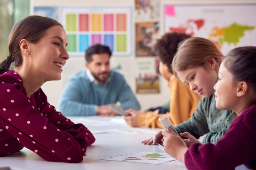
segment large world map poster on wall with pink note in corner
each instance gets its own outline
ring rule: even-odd
[[[182,32],[215,42],[224,54],[238,46],[256,45],[255,2],[166,3],[163,33]]]

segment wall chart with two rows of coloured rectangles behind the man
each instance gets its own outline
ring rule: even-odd
[[[131,56],[132,7],[62,7],[61,23],[67,32],[67,51],[84,56],[95,44],[110,47],[113,56]]]

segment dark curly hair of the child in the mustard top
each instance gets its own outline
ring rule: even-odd
[[[168,66],[170,73],[172,73],[172,60],[177,52],[179,43],[190,37],[190,35],[183,33],[172,32],[164,34],[161,39],[157,40],[155,44],[157,56]]]

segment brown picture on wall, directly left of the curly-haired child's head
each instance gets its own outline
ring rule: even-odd
[[[135,23],[135,56],[156,56],[154,45],[160,36],[159,22]]]

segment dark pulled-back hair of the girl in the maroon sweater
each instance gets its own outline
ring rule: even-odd
[[[237,82],[247,82],[256,92],[256,47],[238,47],[224,59],[224,66]]]

